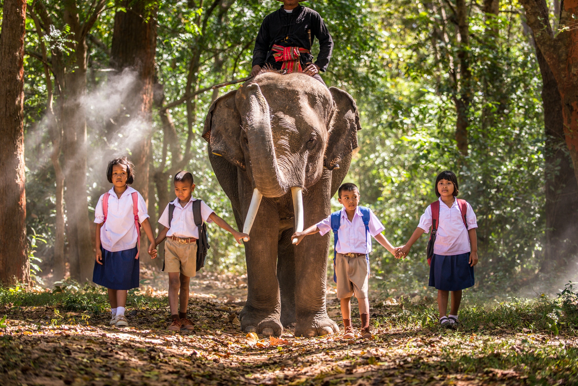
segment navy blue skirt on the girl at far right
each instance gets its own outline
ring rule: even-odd
[[[469,254],[444,256],[434,253],[429,266],[429,287],[442,291],[460,291],[472,287],[474,278]]]

